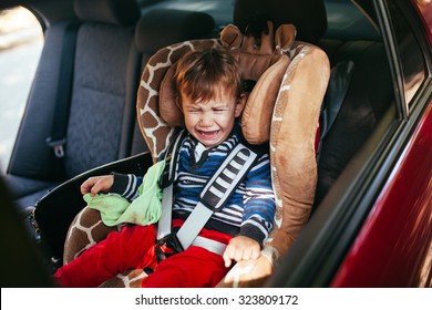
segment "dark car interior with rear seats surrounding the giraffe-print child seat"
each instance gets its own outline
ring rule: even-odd
[[[294,11],[294,0],[210,1],[216,4],[198,10],[188,1],[114,2],[74,0],[73,17],[47,28],[3,176],[22,218],[37,217],[58,264],[69,225],[84,207],[80,184],[113,170],[143,174],[152,164],[137,123],[137,89],[143,68],[164,46],[218,38],[228,23],[244,29],[250,13],[266,10],[276,24],[298,24],[296,40],[326,52],[331,74],[317,136],[313,210],[392,106],[387,52],[370,1],[305,1]]]

